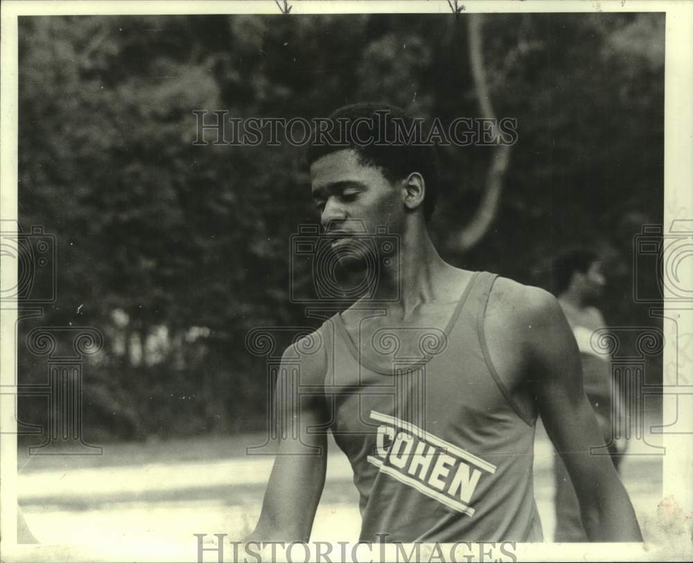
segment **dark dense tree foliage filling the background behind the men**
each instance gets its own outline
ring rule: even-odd
[[[464,256],[450,235],[480,202],[491,149],[443,151],[441,253],[546,285],[548,257],[595,244],[611,257],[607,321],[655,322],[633,303],[631,256],[663,213],[664,15],[487,16],[484,59],[518,143],[498,215]],[[58,299],[20,332],[105,335],[85,368],[91,439],[262,427],[265,367],[245,334],[311,322],[288,299],[290,235],[315,220],[301,153],[193,146],[193,110],[310,118],[372,99],[478,116],[464,15],[20,19],[19,215],[58,241]],[[20,373],[40,382],[46,366],[20,349]],[[23,405],[41,419],[44,404]]]

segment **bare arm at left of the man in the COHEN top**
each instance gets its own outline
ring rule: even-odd
[[[326,370],[324,350],[304,355],[290,346],[282,357],[275,397],[279,452],[265,490],[260,519],[245,541],[308,542],[315,511],[325,483],[327,429],[324,396],[306,394],[306,386],[322,388]],[[297,368],[300,378],[297,377]],[[299,394],[299,383],[302,388]],[[313,430],[308,432],[308,429]]]

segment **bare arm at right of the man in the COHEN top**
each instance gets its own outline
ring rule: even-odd
[[[604,445],[584,393],[577,344],[556,299],[525,288],[527,348],[532,387],[547,434],[570,474],[581,519],[591,541],[642,542],[626,490],[608,455],[590,455]]]

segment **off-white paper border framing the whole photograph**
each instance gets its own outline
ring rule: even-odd
[[[289,0],[290,16],[318,13],[446,13],[446,0]],[[685,1],[464,1],[464,11],[473,12],[666,12],[665,55],[665,211],[664,229],[674,220],[693,225],[693,2]],[[21,15],[144,15],[144,14],[277,14],[274,0],[262,1],[17,1],[1,3],[1,96],[0,96],[0,218],[17,219],[17,17]],[[683,263],[678,280],[693,289],[693,259]],[[14,287],[17,265],[3,262],[1,287]],[[691,289],[688,289],[691,288]],[[11,305],[11,304],[10,304]],[[7,307],[7,308],[6,308]],[[693,332],[693,301],[667,301],[664,315],[676,319],[665,323],[664,366],[676,364],[683,343],[678,335]],[[80,545],[17,544],[17,421],[15,420],[17,311],[7,304],[0,310],[0,557],[3,561],[90,562],[195,561],[194,538],[180,544],[119,544],[111,549],[91,538]],[[672,326],[673,325],[673,326]],[[678,326],[678,331],[676,327]],[[682,330],[683,329],[683,330]],[[691,366],[676,365],[674,380],[665,378],[664,412],[678,412],[678,419],[663,434],[663,498],[680,508],[689,524],[693,520],[693,386],[676,386],[676,375],[693,382]],[[685,371],[685,374],[684,374]],[[668,387],[667,387],[668,386]],[[667,428],[665,428],[667,430]],[[657,507],[653,507],[653,511]],[[663,530],[666,522],[663,522]],[[656,544],[517,544],[519,561],[653,561],[690,560],[691,538],[667,536],[663,531]],[[108,554],[112,555],[108,555]],[[392,557],[394,552],[387,551]],[[116,555],[117,554],[117,555]],[[374,560],[378,551],[373,551]],[[207,558],[206,558],[207,560]]]

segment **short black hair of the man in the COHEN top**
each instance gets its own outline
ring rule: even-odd
[[[387,118],[383,117],[385,114]],[[426,185],[423,215],[428,222],[437,199],[438,154],[435,144],[423,142],[420,129],[416,127],[416,118],[401,107],[387,102],[362,102],[335,109],[327,119],[332,130],[338,132],[332,137],[338,139],[339,143],[320,143],[321,139],[317,138],[314,130],[306,150],[308,166],[327,154],[351,149],[356,152],[363,166],[380,168],[391,182],[404,179],[412,172],[419,172]],[[361,125],[355,127],[358,132],[353,134],[348,124],[356,120],[360,120]],[[401,134],[402,127],[416,133],[404,138]],[[358,142],[354,136],[377,139],[378,143]],[[403,138],[405,142],[398,142],[398,138]]]

